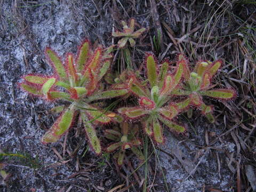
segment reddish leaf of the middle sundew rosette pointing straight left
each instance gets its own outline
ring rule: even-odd
[[[118,113],[126,115],[128,118],[139,118],[143,115],[148,114],[148,111],[140,107],[122,107],[119,108]]]

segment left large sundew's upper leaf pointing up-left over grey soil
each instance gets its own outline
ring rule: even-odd
[[[60,79],[65,81],[67,79],[66,70],[65,70],[65,67],[63,66],[62,61],[58,57],[58,55],[54,51],[52,51],[49,47],[46,48],[45,53],[50,63],[54,67],[55,71],[59,75]]]

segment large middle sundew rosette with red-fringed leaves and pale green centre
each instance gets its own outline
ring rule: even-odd
[[[180,102],[172,101],[172,91],[180,84],[184,76],[183,60],[177,61],[173,73],[169,72],[170,62],[165,60],[158,70],[158,61],[153,54],[147,53],[145,69],[147,81],[142,81],[135,74],[127,80],[127,90],[138,97],[139,105],[122,107],[118,113],[126,119],[141,119],[145,132],[152,136],[157,143],[164,143],[163,126],[175,133],[185,133],[186,129],[174,119],[190,104],[190,98]]]

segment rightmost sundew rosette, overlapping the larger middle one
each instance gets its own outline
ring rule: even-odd
[[[213,123],[215,121],[213,116],[213,106],[205,105],[203,97],[215,98],[218,100],[231,100],[236,97],[236,91],[230,89],[212,89],[215,85],[212,79],[222,66],[222,60],[198,61],[193,71],[189,70],[189,63],[186,57],[182,54],[178,55],[178,59],[184,61],[187,68],[187,73],[182,85],[172,91],[172,94],[186,96],[190,98],[191,105],[202,111],[202,114]]]

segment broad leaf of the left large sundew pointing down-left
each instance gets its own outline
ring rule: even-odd
[[[75,110],[73,109],[67,109],[63,114],[61,114],[52,127],[44,134],[42,142],[48,143],[58,141],[71,127],[74,114]]]

